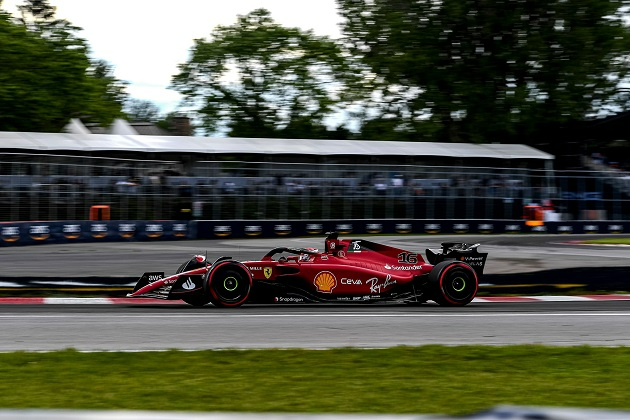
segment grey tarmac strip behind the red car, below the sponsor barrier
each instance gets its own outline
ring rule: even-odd
[[[485,274],[519,276],[541,272],[630,267],[630,247],[585,246],[580,240],[613,235],[401,235],[371,240],[424,255],[441,242],[481,243],[489,252]],[[614,235],[630,238],[630,234]],[[215,239],[161,242],[103,242],[32,245],[0,248],[0,277],[40,278],[132,277],[144,271],[174,270],[194,254],[209,259],[228,255],[239,260],[259,259],[275,246],[322,248],[324,238]]]

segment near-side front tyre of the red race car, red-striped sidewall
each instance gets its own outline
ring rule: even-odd
[[[240,263],[234,261],[222,262],[209,271],[206,282],[208,299],[215,306],[241,306],[249,297],[252,289],[252,275]]]

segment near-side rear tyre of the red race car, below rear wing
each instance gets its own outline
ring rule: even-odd
[[[477,295],[479,279],[475,270],[461,261],[442,261],[429,273],[432,299],[442,306],[464,306]]]

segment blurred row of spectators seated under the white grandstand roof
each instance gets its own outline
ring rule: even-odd
[[[521,197],[531,189],[508,176],[413,178],[402,174],[355,177],[187,177],[187,176],[0,176],[0,197],[11,193],[96,195],[330,195]]]

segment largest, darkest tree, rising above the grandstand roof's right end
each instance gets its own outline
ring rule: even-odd
[[[545,124],[618,102],[628,71],[617,1],[338,3],[348,48],[369,68],[368,127],[401,137],[535,142]]]

